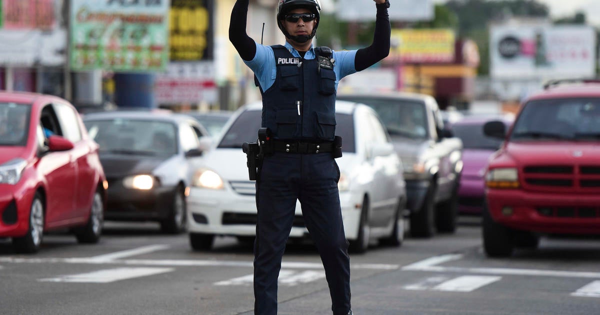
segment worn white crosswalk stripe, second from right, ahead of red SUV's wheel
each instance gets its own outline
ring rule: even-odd
[[[425,278],[418,283],[404,286],[406,290],[434,290],[446,292],[472,292],[480,287],[499,281],[499,276],[463,275],[449,279],[447,276]]]

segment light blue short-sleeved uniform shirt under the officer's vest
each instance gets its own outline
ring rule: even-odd
[[[256,41],[255,41],[256,43]],[[286,49],[292,53],[296,58],[300,57],[298,50],[294,49],[290,43],[286,41]],[[341,52],[333,52],[334,72],[335,72],[335,89],[340,80],[348,74],[356,72],[354,68],[354,58],[356,56],[356,50],[344,50]],[[304,59],[314,59],[314,49],[311,48],[305,53]],[[271,88],[277,78],[277,64],[275,63],[275,53],[271,46],[264,46],[256,43],[256,55],[251,61],[244,61],[248,67],[256,74],[259,79],[260,87],[263,91]]]

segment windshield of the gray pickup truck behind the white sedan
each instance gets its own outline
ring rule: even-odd
[[[388,129],[390,136],[427,137],[427,119],[423,103],[392,98],[353,98],[353,101],[373,107]]]

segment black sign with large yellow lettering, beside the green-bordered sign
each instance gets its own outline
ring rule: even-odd
[[[212,60],[213,0],[171,0],[170,60]]]

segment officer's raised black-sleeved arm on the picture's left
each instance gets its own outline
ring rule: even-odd
[[[256,43],[246,33],[249,0],[238,0],[233,5],[229,22],[229,41],[238,50],[239,56],[251,61],[256,55]],[[389,45],[388,45],[389,46]]]

